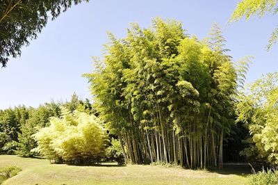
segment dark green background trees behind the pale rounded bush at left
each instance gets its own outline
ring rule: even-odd
[[[0,110],[0,154],[33,156],[31,150],[37,147],[37,143],[32,135],[40,128],[49,126],[51,117],[60,118],[61,107],[71,112],[79,110],[93,113],[90,101],[78,99],[75,93],[70,102],[51,102],[38,108],[15,106]]]

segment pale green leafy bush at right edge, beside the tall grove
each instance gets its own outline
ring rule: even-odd
[[[250,129],[251,143],[243,155],[250,161],[278,163],[278,73],[269,73],[252,83],[246,95],[239,97],[238,120]]]

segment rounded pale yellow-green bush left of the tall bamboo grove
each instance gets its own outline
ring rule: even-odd
[[[99,161],[105,155],[107,131],[95,115],[63,110],[62,118],[51,118],[49,127],[34,134],[39,152],[44,157],[62,163]]]

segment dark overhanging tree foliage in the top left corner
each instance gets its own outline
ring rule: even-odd
[[[51,15],[55,19],[72,4],[89,0],[3,0],[0,5],[0,63],[21,54],[21,48],[38,37]]]

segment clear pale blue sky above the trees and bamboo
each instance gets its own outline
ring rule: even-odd
[[[101,56],[108,42],[106,31],[117,37],[126,35],[129,23],[149,27],[152,18],[177,19],[188,33],[202,39],[213,22],[222,26],[227,48],[234,61],[254,56],[247,82],[267,72],[278,70],[277,45],[265,51],[277,17],[252,17],[227,24],[236,8],[236,0],[91,0],[62,13],[22,49],[20,58],[11,58],[8,67],[0,69],[0,108],[18,104],[38,106],[44,102],[65,101],[76,92],[91,99],[88,82],[81,74],[91,72],[91,56]]]

